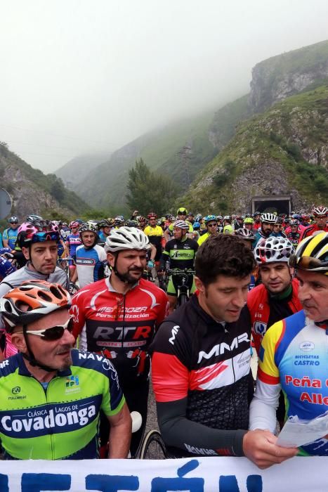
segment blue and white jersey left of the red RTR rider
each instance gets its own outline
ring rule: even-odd
[[[81,245],[76,251],[77,278],[79,286],[85,287],[89,283],[104,278],[104,269],[107,265],[107,255],[103,247],[95,245],[86,250]]]

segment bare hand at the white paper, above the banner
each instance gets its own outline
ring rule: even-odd
[[[263,470],[293,458],[299,451],[298,448],[282,448],[276,442],[277,437],[268,430],[249,431],[242,443],[244,455]]]

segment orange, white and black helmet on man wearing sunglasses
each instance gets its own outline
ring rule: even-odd
[[[25,280],[1,297],[0,312],[6,330],[12,332],[16,325],[28,325],[57,309],[69,308],[70,304],[70,294],[60,284]],[[22,311],[22,305],[27,306],[27,311]]]

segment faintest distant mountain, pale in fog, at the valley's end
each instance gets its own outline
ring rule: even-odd
[[[70,190],[79,190],[80,184],[86,179],[90,169],[95,169],[99,164],[107,161],[110,154],[107,152],[79,155],[55,171],[55,175],[62,179]]]

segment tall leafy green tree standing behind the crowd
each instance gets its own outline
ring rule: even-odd
[[[176,185],[169,176],[150,171],[141,158],[129,171],[126,202],[131,210],[147,215],[154,211],[164,215],[171,209],[177,195]]]

